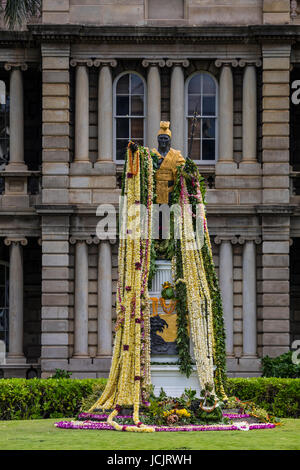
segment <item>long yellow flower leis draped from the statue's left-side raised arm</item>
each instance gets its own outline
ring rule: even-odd
[[[137,202],[141,194],[140,160],[147,168],[147,237],[141,238],[141,214]],[[150,152],[127,151],[124,184],[126,202],[121,207],[119,277],[117,286],[117,324],[113,358],[105,390],[90,408],[113,409],[107,423],[118,431],[154,432],[139,420],[139,407],[146,403],[150,384],[150,308],[148,275],[153,202],[153,167]],[[127,228],[129,227],[129,228]],[[134,229],[131,230],[131,227]],[[134,236],[131,236],[134,234]],[[139,234],[139,236],[138,236]],[[114,418],[122,406],[133,404],[134,426],[120,425]]]

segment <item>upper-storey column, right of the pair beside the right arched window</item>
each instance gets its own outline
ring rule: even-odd
[[[240,67],[246,65],[243,77],[243,163],[256,162],[257,146],[257,86],[255,63],[239,61]]]

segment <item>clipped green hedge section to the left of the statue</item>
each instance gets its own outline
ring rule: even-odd
[[[0,420],[73,417],[93,385],[105,379],[2,379]]]

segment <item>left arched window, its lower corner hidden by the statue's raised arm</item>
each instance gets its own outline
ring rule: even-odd
[[[128,140],[144,145],[145,84],[136,73],[126,72],[115,82],[114,146],[115,159],[125,158]]]

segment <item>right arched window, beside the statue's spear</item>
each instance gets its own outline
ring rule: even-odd
[[[186,154],[200,163],[217,159],[217,84],[206,72],[192,75],[186,84]],[[194,113],[197,113],[191,142]]]

